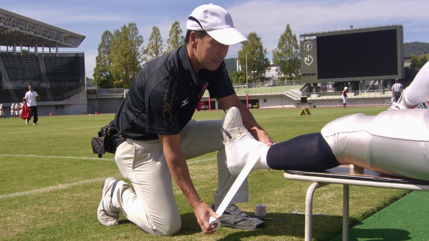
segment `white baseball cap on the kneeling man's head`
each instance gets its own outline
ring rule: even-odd
[[[194,31],[204,30],[224,45],[249,44],[249,40],[234,28],[233,19],[227,10],[212,3],[194,9],[186,22],[186,28]]]

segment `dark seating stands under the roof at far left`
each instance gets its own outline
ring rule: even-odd
[[[69,54],[67,54],[69,55]],[[6,75],[13,89],[0,88],[0,102],[21,102],[33,84],[41,101],[63,100],[61,96],[85,84],[83,55],[76,56],[18,56],[0,54]],[[3,71],[4,71],[3,70]]]

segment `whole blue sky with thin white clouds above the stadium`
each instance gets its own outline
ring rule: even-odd
[[[92,78],[104,31],[135,22],[146,45],[152,27],[158,26],[166,42],[174,21],[180,22],[185,33],[189,14],[207,3],[227,9],[243,35],[256,32],[269,59],[287,24],[298,38],[302,33],[350,25],[402,24],[404,42],[429,42],[428,0],[13,0],[3,1],[0,7],[86,36],[79,48],[60,51],[84,51],[86,75]],[[239,49],[241,44],[230,46],[227,58],[237,57]]]

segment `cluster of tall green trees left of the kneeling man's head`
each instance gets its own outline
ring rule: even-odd
[[[129,88],[145,63],[184,44],[178,21],[172,24],[167,45],[163,43],[158,26],[152,27],[149,42],[139,35],[136,23],[122,26],[113,33],[106,30],[98,45],[94,81],[102,89]]]

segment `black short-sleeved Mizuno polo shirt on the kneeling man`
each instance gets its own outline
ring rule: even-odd
[[[134,140],[175,135],[190,121],[205,90],[211,98],[234,94],[225,63],[195,72],[186,45],[147,63],[116,112],[115,127]]]

